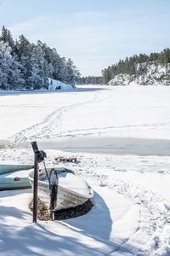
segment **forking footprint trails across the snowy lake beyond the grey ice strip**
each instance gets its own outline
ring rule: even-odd
[[[105,92],[95,92],[93,98],[85,100],[84,102],[79,103],[71,103],[70,105],[64,105],[60,108],[54,110],[53,113],[50,113],[47,117],[45,117],[42,122],[32,125],[22,131],[19,131],[14,134],[14,136],[9,137],[8,139],[14,141],[14,143],[26,142],[33,139],[41,139],[48,137],[71,137],[71,136],[82,136],[82,135],[92,135],[92,134],[100,134],[105,133],[105,131],[116,131],[117,129],[142,129],[141,127],[157,127],[159,125],[168,125],[166,123],[163,124],[145,124],[145,125],[111,125],[111,126],[101,126],[101,127],[91,127],[91,128],[82,128],[82,129],[74,129],[68,130],[65,127],[64,131],[59,129],[59,125],[62,119],[65,117],[65,113],[69,112],[71,109],[79,108],[81,106],[85,106],[92,103],[102,102],[115,95],[111,93],[109,96]],[[31,106],[32,108],[32,106]]]

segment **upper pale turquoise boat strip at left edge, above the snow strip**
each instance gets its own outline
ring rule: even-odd
[[[0,164],[0,175],[1,174],[6,174],[8,172],[18,172],[18,171],[25,171],[25,170],[29,170],[32,169],[33,166],[31,165],[14,165],[14,164]]]

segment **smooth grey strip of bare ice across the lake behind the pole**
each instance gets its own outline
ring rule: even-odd
[[[134,137],[63,137],[37,140],[40,148],[72,153],[136,154],[170,156],[170,140]],[[14,148],[30,148],[30,143],[20,143]]]

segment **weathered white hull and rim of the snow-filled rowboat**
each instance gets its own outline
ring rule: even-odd
[[[57,168],[55,168],[55,170],[57,170]],[[72,175],[77,176],[74,172],[72,173]],[[30,172],[28,178],[30,179],[31,186],[33,186],[33,172]],[[81,180],[83,181],[84,186],[87,186],[88,193],[86,195],[83,195],[75,190],[73,191],[59,185],[57,195],[57,207],[54,208],[54,211],[80,206],[94,196],[94,191],[88,186],[88,183],[86,183],[82,178]],[[41,198],[41,200],[46,204],[47,207],[49,207],[50,194],[48,182],[38,180],[38,197]]]

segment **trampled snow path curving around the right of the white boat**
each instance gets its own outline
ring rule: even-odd
[[[88,167],[83,168],[83,166]],[[166,200],[161,195],[158,195],[151,190],[144,189],[138,183],[132,183],[123,178],[118,179],[115,178],[114,175],[99,174],[97,170],[98,166],[99,163],[97,160],[91,160],[91,166],[86,162],[83,162],[81,171],[82,176],[85,177],[89,183],[97,183],[101,187],[113,189],[117,193],[132,199],[135,204],[139,204],[141,211],[139,230],[130,236],[127,241],[122,244],[120,243],[118,250],[113,247],[113,251],[108,255],[129,256],[136,255],[138,252],[142,252],[143,254],[141,255],[149,255],[146,251],[147,242],[151,237],[155,236],[154,234],[158,230],[159,232],[160,230],[164,230],[169,221],[169,211],[166,207],[162,209],[161,205],[161,202]],[[105,173],[105,170],[102,172]],[[124,170],[122,172],[124,172]],[[157,247],[159,247],[159,245],[157,245]]]

